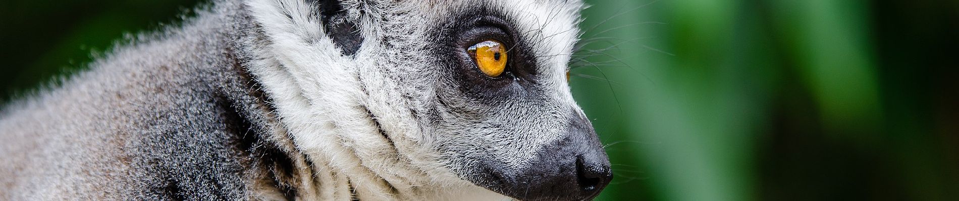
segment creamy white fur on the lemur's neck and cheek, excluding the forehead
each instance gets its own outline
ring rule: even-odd
[[[342,56],[311,18],[310,5],[292,0],[253,0],[246,5],[267,37],[255,50],[263,57],[250,71],[273,99],[297,149],[322,166],[314,167],[317,197],[422,200],[464,194],[476,198],[478,193],[470,191],[491,193],[457,178],[443,168],[445,164],[435,164],[429,157],[437,155],[434,152],[416,147],[406,137],[420,135],[412,133],[418,133],[415,121],[409,120],[413,117],[396,108],[404,106],[368,100],[398,96],[389,91],[399,86],[389,85],[377,73],[364,73],[361,82],[360,69],[369,70],[376,63]],[[362,50],[357,57],[363,54]],[[386,139],[370,113],[377,113],[385,122],[383,130],[401,142]]]

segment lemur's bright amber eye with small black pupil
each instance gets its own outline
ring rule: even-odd
[[[473,57],[479,70],[490,77],[500,76],[506,70],[506,47],[499,41],[479,42],[466,51]]]

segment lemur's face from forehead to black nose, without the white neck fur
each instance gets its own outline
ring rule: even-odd
[[[580,2],[420,8],[433,17],[406,36],[417,45],[391,52],[418,58],[408,65],[428,77],[406,85],[429,91],[420,122],[453,171],[523,200],[588,199],[605,187],[609,161],[566,77]]]

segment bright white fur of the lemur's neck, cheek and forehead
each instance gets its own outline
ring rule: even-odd
[[[250,71],[265,86],[274,101],[280,121],[293,143],[315,162],[321,184],[348,180],[363,200],[424,199],[443,194],[489,195],[448,169],[441,153],[434,151],[429,127],[410,111],[420,102],[407,100],[409,89],[392,82],[383,59],[385,47],[377,40],[386,36],[414,37],[409,32],[384,30],[403,26],[423,31],[444,22],[459,10],[485,5],[510,18],[517,32],[548,72],[548,88],[558,100],[573,103],[564,72],[579,30],[579,1],[390,1],[343,0],[347,17],[357,21],[365,41],[353,57],[343,56],[324,33],[315,5],[304,0],[248,0],[246,6],[262,27],[264,39],[253,41],[259,55]],[[361,11],[362,10],[362,11]],[[424,26],[424,27],[415,27]],[[421,33],[421,32],[420,32]],[[429,39],[420,39],[429,40]],[[393,64],[402,67],[400,64]],[[409,67],[413,68],[413,67]],[[414,96],[426,97],[426,96]],[[372,115],[372,116],[371,116]],[[376,119],[370,119],[374,117]],[[380,132],[384,133],[381,134]],[[330,173],[330,171],[334,173]],[[327,172],[327,174],[324,174]],[[324,176],[325,175],[325,176]],[[331,187],[332,186],[332,187]],[[350,190],[321,185],[324,198],[348,196]],[[330,195],[333,194],[333,195]],[[333,196],[333,197],[328,197]],[[484,198],[475,196],[474,198]],[[327,199],[328,200],[328,199]]]

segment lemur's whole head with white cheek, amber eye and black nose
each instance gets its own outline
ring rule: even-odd
[[[612,179],[567,83],[578,0],[246,6],[250,70],[293,143],[358,193],[585,200]]]

